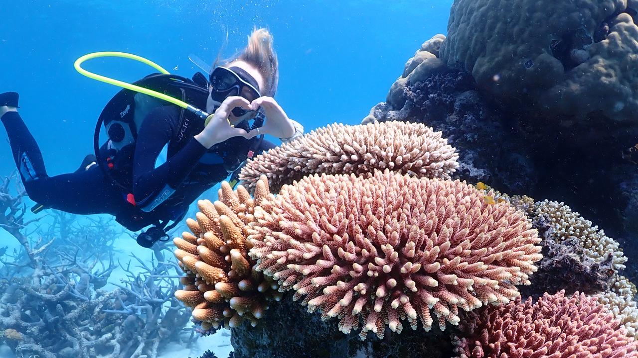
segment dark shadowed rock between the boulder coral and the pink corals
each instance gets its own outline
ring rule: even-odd
[[[624,275],[638,281],[638,125],[504,106],[459,70],[405,91],[402,108],[380,103],[366,120],[422,122],[457,148],[457,178],[565,202],[619,241],[629,258]]]

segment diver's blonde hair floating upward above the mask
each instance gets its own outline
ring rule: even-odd
[[[226,32],[226,41],[228,41],[228,32]],[[248,45],[244,50],[225,60],[219,59],[218,55],[212,68],[237,60],[248,62],[255,66],[263,76],[265,88],[260,89],[259,92],[262,96],[272,97],[277,92],[279,83],[279,62],[272,42],[272,34],[268,29],[255,27],[248,36]]]

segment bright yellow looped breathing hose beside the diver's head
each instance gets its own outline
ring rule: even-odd
[[[142,62],[144,64],[147,64],[149,66],[151,66],[154,69],[157,69],[159,72],[163,73],[164,75],[170,75],[170,73],[168,73],[167,70],[163,69],[161,66],[159,66],[158,64],[156,64],[155,62],[150,61],[149,59],[145,59],[144,57],[140,57],[138,55],[133,55],[133,54],[127,54],[126,52],[117,52],[117,51],[102,51],[102,52],[93,52],[92,54],[87,54],[84,55],[82,57],[80,57],[79,59],[75,60],[75,63],[73,64],[73,66],[75,67],[75,69],[82,75],[87,76],[88,78],[93,78],[93,80],[98,80],[101,82],[105,82],[108,83],[110,85],[115,85],[118,87],[122,87],[124,89],[128,89],[128,90],[134,90],[135,92],[140,92],[142,94],[147,94],[148,96],[152,96],[152,97],[156,97],[159,99],[163,99],[164,101],[167,101],[169,103],[175,104],[181,108],[184,108],[185,110],[189,110],[193,113],[195,113],[196,115],[198,115],[198,117],[202,118],[202,119],[206,119],[207,117],[209,117],[209,114],[206,113],[205,111],[199,110],[198,108],[195,108],[193,106],[191,106],[190,104],[184,102],[184,101],[180,101],[177,98],[174,97],[170,97],[167,96],[163,93],[159,93],[157,91],[151,90],[151,89],[145,89],[144,87],[140,87],[137,85],[133,85],[131,83],[127,83],[127,82],[123,82],[120,80],[115,80],[114,78],[108,78],[106,76],[101,76],[98,75],[97,73],[93,73],[93,72],[89,72],[87,70],[85,70],[84,68],[82,68],[80,65],[90,59],[97,59],[98,57],[123,57],[125,59],[131,59],[131,60],[135,60],[138,62]],[[208,124],[206,122],[206,124]]]

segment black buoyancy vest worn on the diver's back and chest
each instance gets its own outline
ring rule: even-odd
[[[209,96],[207,89],[208,81],[205,76],[199,72],[195,73],[192,79],[177,75],[162,75],[156,73],[145,76],[133,84],[181,99],[197,108],[206,108],[206,101]],[[138,131],[149,113],[159,106],[167,105],[171,106],[174,104],[169,104],[139,92],[122,89],[108,101],[98,118],[93,143],[96,162],[107,178],[121,189],[122,199],[132,206],[136,206],[135,197],[133,197],[132,194],[133,154],[135,153]],[[182,108],[179,108],[179,110],[179,130],[174,138],[170,140],[170,145],[173,147],[181,147],[180,142],[189,139],[180,135],[183,134],[184,127],[192,120],[200,120],[200,118],[197,118]],[[255,123],[252,126],[242,122],[237,125],[237,127],[244,127],[246,131],[249,131],[262,124],[263,117],[259,117],[255,119]],[[100,132],[102,127],[107,134],[107,141],[100,145]],[[223,158],[224,168],[227,173],[231,175],[230,182],[236,184],[242,164],[245,163],[248,157],[251,157],[252,154],[257,152],[262,140],[263,135],[252,138],[251,140],[246,140],[242,137],[231,138],[228,141],[211,147],[209,152],[217,153]],[[154,224],[153,222],[146,223],[148,220],[145,220],[145,217],[151,216],[148,212],[140,210],[139,208],[130,209],[130,218],[119,218],[118,220],[123,226],[137,231],[141,229],[141,227],[138,227],[136,222],[139,222],[142,227]],[[181,217],[170,218],[170,220],[176,222],[177,220],[181,220],[182,217],[183,215],[181,215]],[[163,227],[163,231],[165,232],[170,229],[170,227],[165,227],[167,222],[168,218],[165,223],[155,225]]]

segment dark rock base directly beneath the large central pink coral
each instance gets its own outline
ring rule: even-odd
[[[337,320],[323,322],[308,313],[292,295],[273,303],[256,327],[244,322],[232,329],[235,358],[448,358],[452,356],[449,331],[430,332],[409,327],[401,334],[389,330],[383,340],[370,334],[343,334]]]

